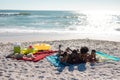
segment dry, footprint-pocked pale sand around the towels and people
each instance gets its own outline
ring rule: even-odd
[[[46,58],[38,62],[6,59],[5,56],[13,52],[13,42],[0,43],[0,80],[119,80],[120,78],[120,62],[115,61],[96,63],[95,66],[86,64],[86,70],[79,71],[78,65],[54,67]],[[80,49],[81,46],[87,46],[90,50],[95,49],[120,57],[120,42],[115,41],[91,39],[23,41],[21,48],[35,43],[48,43],[52,46],[52,50],[58,50],[59,44],[63,45],[63,50],[66,47]]]

